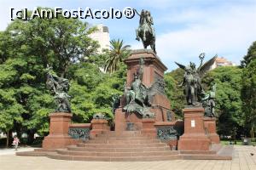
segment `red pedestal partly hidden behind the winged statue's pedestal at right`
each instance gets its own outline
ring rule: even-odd
[[[216,118],[205,117],[204,125],[207,131],[207,136],[213,144],[219,144],[219,136],[216,133]]]

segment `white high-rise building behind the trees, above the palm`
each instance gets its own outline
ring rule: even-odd
[[[98,48],[98,52],[101,54],[103,48],[109,49],[109,45],[110,45],[109,31],[108,31],[108,26],[103,26],[102,24],[99,24],[96,27],[98,31],[91,33],[90,37],[93,40],[96,40],[99,42],[101,47]]]

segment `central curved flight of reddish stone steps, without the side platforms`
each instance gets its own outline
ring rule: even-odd
[[[46,156],[73,161],[163,161],[181,159],[177,150],[140,131],[107,132]]]

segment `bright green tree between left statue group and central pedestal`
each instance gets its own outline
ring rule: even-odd
[[[73,67],[76,67],[73,69]],[[97,65],[73,65],[73,80],[69,94],[72,96],[73,122],[90,122],[93,114],[103,112],[113,118],[113,94],[123,93],[125,65],[122,63],[113,74],[103,73]]]

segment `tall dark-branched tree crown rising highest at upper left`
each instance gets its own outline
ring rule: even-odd
[[[38,9],[39,12],[41,8]],[[54,70],[65,77],[69,65],[96,54],[99,44],[89,35],[95,27],[78,19],[42,20],[39,17],[29,20],[14,20],[7,28],[7,32],[18,46],[26,53],[26,57],[36,57],[44,68],[53,65]]]

